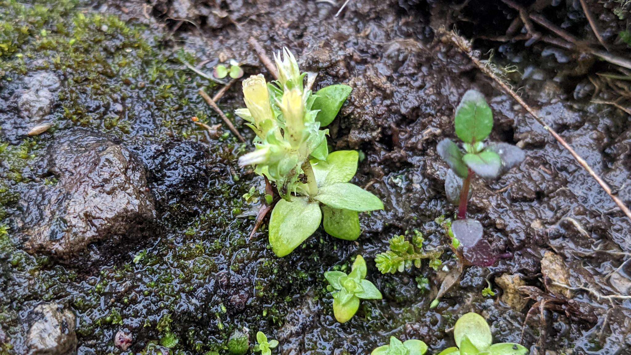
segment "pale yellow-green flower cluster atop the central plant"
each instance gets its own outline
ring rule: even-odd
[[[244,80],[245,109],[235,113],[247,121],[256,139],[256,150],[240,157],[240,165],[256,165],[257,174],[276,183],[283,198],[295,193],[302,165],[309,157],[326,160],[328,130],[321,130],[311,110],[315,97],[304,90],[305,74],[287,50],[274,56],[278,80],[267,83],[253,75]]]

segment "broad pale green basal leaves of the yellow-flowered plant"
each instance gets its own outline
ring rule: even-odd
[[[353,241],[361,232],[358,212],[384,208],[377,196],[348,183],[357,171],[357,160],[354,150],[333,152],[326,161],[310,160],[318,193],[276,203],[269,220],[269,243],[276,255],[291,253],[315,232],[321,220],[331,236]]]

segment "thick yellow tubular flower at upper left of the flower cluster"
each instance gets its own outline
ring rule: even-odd
[[[269,122],[274,122],[272,107],[271,104],[269,104],[268,86],[262,74],[252,75],[244,80],[243,95],[245,105],[247,109],[249,109],[250,117],[252,117],[253,120],[251,123],[254,124],[257,129],[261,130],[263,127],[268,126]],[[241,117],[249,121],[246,117]],[[261,133],[265,135],[267,132],[262,131]]]

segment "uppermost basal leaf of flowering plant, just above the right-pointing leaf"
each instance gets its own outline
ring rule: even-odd
[[[338,150],[330,153],[326,159],[311,160],[315,181],[318,186],[333,183],[348,183],[357,172],[359,153],[356,150]]]

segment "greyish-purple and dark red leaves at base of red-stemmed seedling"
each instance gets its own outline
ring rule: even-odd
[[[497,261],[491,244],[483,238],[482,224],[475,219],[459,219],[451,223],[454,238],[460,241],[464,259],[471,265],[491,266]]]

